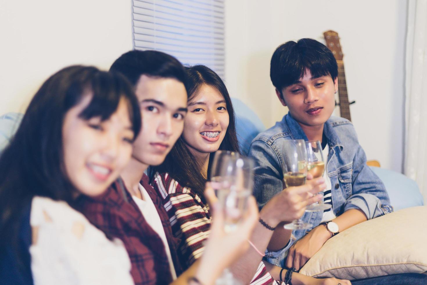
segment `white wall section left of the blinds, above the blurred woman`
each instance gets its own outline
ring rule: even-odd
[[[24,112],[67,65],[108,69],[132,49],[131,1],[0,0],[0,114]]]

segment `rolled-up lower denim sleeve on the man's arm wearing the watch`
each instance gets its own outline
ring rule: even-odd
[[[393,212],[383,182],[366,165],[366,155],[359,145],[353,161],[352,193],[344,204],[344,212],[360,209],[368,220]]]

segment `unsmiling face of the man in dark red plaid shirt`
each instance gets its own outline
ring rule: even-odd
[[[142,75],[135,94],[140,102],[142,129],[132,157],[146,166],[160,165],[184,128],[187,91],[177,79]]]

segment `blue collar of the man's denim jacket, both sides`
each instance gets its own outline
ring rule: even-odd
[[[304,131],[301,129],[301,126],[294,118],[292,118],[290,112],[288,112],[288,114],[284,116],[283,120],[286,121],[286,125],[288,126],[288,132],[290,133],[293,139],[302,139],[304,141],[308,141],[308,138],[305,135]],[[327,120],[325,122],[325,125],[323,126],[323,132],[325,133],[326,138],[328,138],[329,147],[335,148],[339,146],[340,150],[343,150],[343,145],[339,140],[339,137],[336,134],[335,130],[333,129],[330,120]]]

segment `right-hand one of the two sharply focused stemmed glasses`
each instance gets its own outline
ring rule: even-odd
[[[322,143],[320,141],[306,141],[307,147],[307,173],[310,173],[313,178],[323,176],[325,173],[325,157],[323,156]],[[319,201],[307,206],[308,211],[324,211],[330,209],[330,204],[325,204]]]

